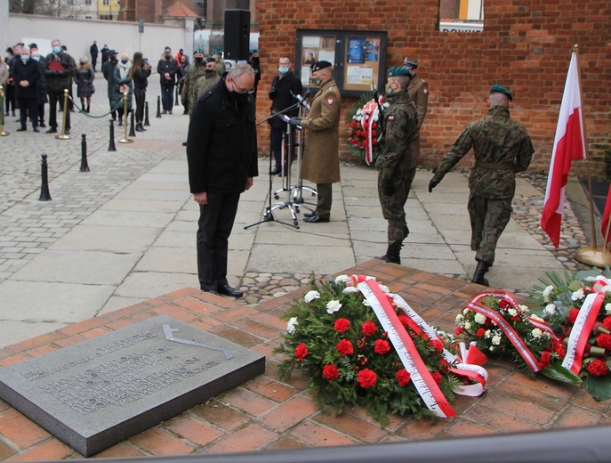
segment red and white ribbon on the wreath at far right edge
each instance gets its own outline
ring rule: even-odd
[[[582,370],[583,353],[588,344],[590,333],[594,328],[596,317],[600,313],[600,307],[605,301],[605,293],[592,293],[585,296],[582,308],[575,319],[573,329],[568,337],[567,355],[562,361],[562,366],[571,370],[575,375]]]

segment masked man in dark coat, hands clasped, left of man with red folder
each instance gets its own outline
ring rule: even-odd
[[[34,60],[30,60],[29,46],[21,47],[20,60],[15,61],[12,69],[12,78],[16,84],[16,97],[19,102],[20,128],[17,132],[27,130],[26,122],[29,117],[32,120],[32,129],[38,132],[38,79],[40,78],[40,67]]]

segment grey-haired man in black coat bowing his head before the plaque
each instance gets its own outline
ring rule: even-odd
[[[227,281],[228,240],[240,194],[259,175],[254,70],[237,63],[195,102],[189,122],[189,188],[199,204],[197,273],[213,294],[240,297]]]

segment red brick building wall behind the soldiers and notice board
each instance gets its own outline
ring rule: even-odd
[[[294,56],[295,31],[385,30],[387,64],[420,60],[430,84],[422,126],[420,164],[434,167],[470,121],[486,114],[491,85],[514,93],[511,116],[527,127],[535,145],[531,169],[549,168],[559,106],[572,46],[579,45],[588,150],[592,174],[611,175],[611,3],[607,0],[486,0],[482,33],[438,31],[438,0],[347,0],[307,3],[258,0],[262,79],[258,116],[269,114],[267,90],[282,54]],[[345,111],[355,99],[342,102]],[[261,136],[263,131],[261,131]],[[266,142],[262,142],[265,145]],[[342,145],[345,148],[345,142]],[[342,152],[342,156],[347,156]],[[467,157],[470,158],[470,157]],[[470,160],[462,160],[469,166]],[[575,163],[580,172],[582,163]]]

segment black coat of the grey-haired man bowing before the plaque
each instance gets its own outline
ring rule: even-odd
[[[242,192],[247,178],[259,175],[253,96],[235,101],[224,76],[191,112],[187,160],[192,193]]]

